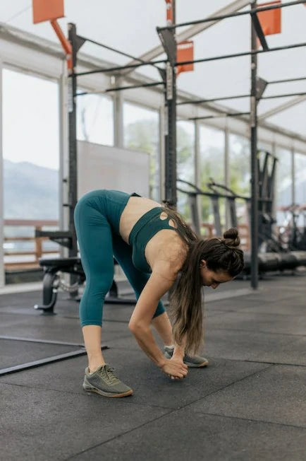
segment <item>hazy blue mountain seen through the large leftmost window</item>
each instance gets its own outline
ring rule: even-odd
[[[59,219],[59,171],[4,160],[4,218]]]

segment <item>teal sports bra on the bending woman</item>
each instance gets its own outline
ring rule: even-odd
[[[152,269],[147,263],[147,259],[145,259],[145,247],[153,235],[162,229],[171,229],[177,232],[176,228],[169,224],[169,218],[160,218],[163,211],[164,209],[161,208],[161,206],[147,211],[147,213],[138,219],[137,223],[135,223],[135,226],[130,231],[128,243],[133,248],[133,264],[136,269],[141,272],[152,272]]]

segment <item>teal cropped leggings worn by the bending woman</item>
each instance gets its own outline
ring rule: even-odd
[[[86,276],[80,301],[80,323],[102,325],[104,298],[114,279],[114,257],[133,286],[138,299],[150,274],[140,272],[132,262],[132,247],[119,235],[120,216],[129,194],[96,190],[85,194],[75,206],[75,229]],[[159,301],[153,317],[165,312]]]

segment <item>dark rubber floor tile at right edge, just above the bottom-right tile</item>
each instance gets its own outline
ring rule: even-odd
[[[195,412],[306,428],[306,368],[271,366],[192,404]]]

